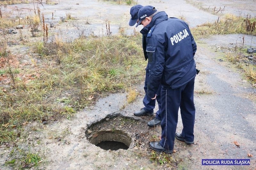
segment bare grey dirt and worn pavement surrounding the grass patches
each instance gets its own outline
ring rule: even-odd
[[[192,1],[197,6],[182,0],[150,1],[138,0],[141,5],[153,5],[158,11],[166,11],[169,16],[183,16],[190,27],[212,22],[218,15],[202,10],[214,6],[225,6],[225,11],[235,15],[246,16],[250,13],[256,15],[254,0],[226,0],[226,1]],[[79,5],[76,5],[79,3]],[[249,5],[245,5],[249,4]],[[33,4],[8,5],[6,12],[16,15],[16,6],[21,14],[33,9]],[[87,25],[95,35],[105,34],[105,20],[111,21],[113,34],[118,28],[124,27],[127,34],[132,34],[133,27],[128,26],[129,10],[131,6],[117,5],[98,0],[60,1],[60,4],[46,5],[41,8],[46,22],[53,22],[54,31],[63,31],[63,37],[72,40],[76,38],[71,22],[59,25],[60,16],[70,12],[79,24],[87,19]],[[33,11],[33,10],[32,10]],[[52,18],[54,12],[54,19]],[[223,13],[224,13],[223,12]],[[137,32],[142,27],[136,28]],[[104,30],[104,31],[103,31]],[[31,38],[28,27],[23,29],[25,39],[30,42],[37,41]],[[18,39],[18,34],[8,35]],[[207,39],[198,40],[195,60],[200,73],[195,83],[195,144],[187,145],[175,141],[176,160],[174,169],[256,169],[256,89],[246,80],[241,72],[232,64],[223,61],[224,52],[233,48],[237,42],[242,41],[243,35],[216,35]],[[245,36],[246,47],[256,46],[255,36]],[[10,45],[11,52],[20,59],[20,65],[26,67],[32,64],[31,49],[15,41]],[[25,64],[24,64],[25,63]],[[56,120],[52,124],[43,125],[38,122],[29,122],[21,137],[17,139],[20,148],[27,149],[30,144],[31,152],[38,153],[43,160],[37,169],[169,169],[166,165],[156,164],[149,160],[151,150],[148,142],[151,136],[161,136],[161,127],[149,128],[147,122],[154,116],[135,117],[134,111],[143,107],[144,82],[136,87],[139,96],[132,104],[127,104],[126,93],[109,94],[100,98],[94,106],[89,106],[78,112],[71,120]],[[206,93],[200,93],[200,92]],[[208,92],[208,93],[207,93]],[[125,107],[124,107],[125,105]],[[154,112],[157,111],[157,106]],[[100,122],[99,122],[100,121]],[[99,122],[97,124],[97,122]],[[116,122],[116,123],[115,123]],[[128,150],[106,151],[89,142],[88,129],[97,125],[98,130],[114,127],[124,130],[131,136],[131,145]],[[35,130],[36,129],[36,130]],[[95,128],[94,128],[95,130]],[[177,132],[182,130],[181,117]],[[38,141],[40,143],[38,144]],[[234,142],[239,143],[237,147]],[[12,148],[2,145],[0,147],[0,169],[10,169],[4,166],[9,159]],[[248,159],[251,154],[250,166],[202,166],[202,159]]]

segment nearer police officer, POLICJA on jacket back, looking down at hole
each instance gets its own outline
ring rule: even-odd
[[[138,18],[136,27],[142,24],[144,28],[140,33],[147,37],[148,100],[156,98],[162,83],[162,136],[160,142],[150,142],[149,147],[172,153],[175,137],[187,144],[194,143],[196,43],[185,21],[168,18],[165,12],[156,12],[153,6],[142,7]],[[183,124],[181,134],[176,133],[179,107]]]

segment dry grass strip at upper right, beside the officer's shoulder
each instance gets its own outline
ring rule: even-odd
[[[253,23],[254,21],[256,21],[256,18],[250,18],[250,23]],[[248,30],[247,27],[248,18],[246,19],[232,14],[226,14],[221,18],[219,17],[214,23],[205,23],[198,27],[192,28],[191,32],[195,38],[202,38],[216,34],[256,35],[255,29],[252,30],[251,28]]]

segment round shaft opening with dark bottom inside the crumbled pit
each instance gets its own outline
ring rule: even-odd
[[[118,149],[128,149],[132,138],[122,130],[112,129],[94,133],[89,141],[101,149],[116,151]]]

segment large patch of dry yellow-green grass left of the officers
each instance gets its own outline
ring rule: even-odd
[[[136,93],[131,84],[144,75],[140,36],[83,37],[72,43],[56,36],[52,43],[35,43],[33,49],[41,60],[37,71],[25,78],[26,70],[12,71],[15,81],[0,89],[4,143],[14,141],[24,123],[51,121],[52,116],[70,119],[102,93],[131,88],[132,101]],[[8,70],[1,74],[11,78]]]

